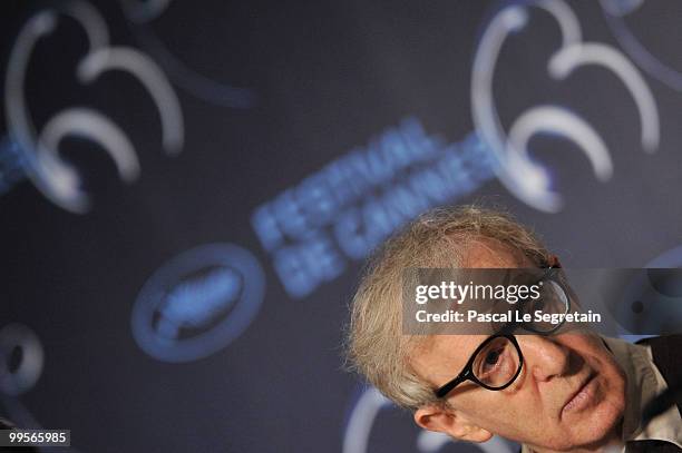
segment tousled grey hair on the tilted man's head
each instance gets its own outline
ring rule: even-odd
[[[440,404],[409,356],[428,337],[402,334],[402,272],[460,267],[468,247],[491,239],[543,266],[549,253],[538,237],[509,214],[475,205],[422,214],[370,257],[350,309],[347,364],[396,404],[416,410]]]

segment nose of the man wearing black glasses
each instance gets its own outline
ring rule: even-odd
[[[558,337],[524,335],[524,357],[528,371],[538,382],[571,373],[571,349],[563,345]]]

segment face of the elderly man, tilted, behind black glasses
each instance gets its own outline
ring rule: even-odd
[[[466,267],[533,266],[488,242],[472,246]],[[412,366],[433,387],[439,387],[459,374],[486,337],[432,336],[413,354]],[[517,341],[524,365],[509,387],[489,391],[467,381],[447,396],[452,407],[451,420],[433,426],[435,417],[423,417],[429,412],[419,410],[418,423],[459,437],[474,426],[484,433],[551,450],[594,446],[614,435],[625,407],[625,377],[598,336],[517,335]]]

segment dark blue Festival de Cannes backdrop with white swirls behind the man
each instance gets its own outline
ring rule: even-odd
[[[342,371],[362,260],[478,201],[568,267],[680,266],[681,19],[3,1],[0,416],[82,453],[515,451],[419,432]]]

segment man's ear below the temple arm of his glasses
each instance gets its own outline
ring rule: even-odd
[[[493,433],[470,423],[456,410],[432,404],[415,412],[415,422],[425,430],[448,434],[468,442],[486,442]]]

